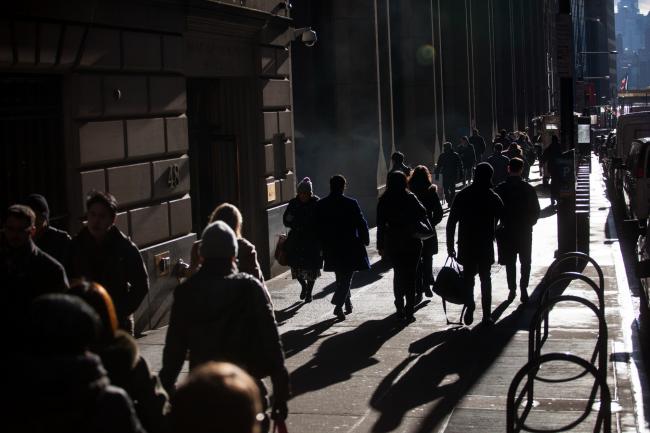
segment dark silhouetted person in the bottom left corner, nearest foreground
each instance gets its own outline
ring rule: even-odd
[[[133,402],[112,386],[88,351],[97,314],[81,299],[49,294],[27,316],[30,351],[17,364],[17,387],[5,389],[4,431],[17,433],[144,433]]]

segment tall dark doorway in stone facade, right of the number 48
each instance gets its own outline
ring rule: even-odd
[[[219,81],[187,80],[192,223],[197,233],[217,205],[240,204],[238,140],[225,133]]]

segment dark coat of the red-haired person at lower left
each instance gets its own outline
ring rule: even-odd
[[[165,420],[170,409],[167,393],[140,355],[133,337],[117,331],[113,341],[94,351],[101,358],[111,384],[124,389],[133,400],[145,430],[148,433],[168,431]]]

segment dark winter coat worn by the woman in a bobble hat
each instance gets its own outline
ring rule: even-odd
[[[289,201],[282,221],[289,227],[287,236],[287,259],[294,269],[315,270],[323,267],[318,226],[316,223],[316,203],[319,198],[312,196],[303,203],[298,197]]]

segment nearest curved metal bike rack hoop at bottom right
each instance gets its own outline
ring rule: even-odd
[[[589,396],[585,412],[578,417],[575,421],[556,428],[556,429],[536,429],[526,425],[526,418],[528,417],[532,407],[533,407],[533,397],[534,397],[534,379],[531,379],[535,373],[540,369],[540,367],[548,362],[553,361],[564,361],[571,362],[585,369],[587,373],[590,373],[594,377],[594,391],[592,391]],[[517,395],[517,389],[524,377],[528,377],[528,382],[525,386],[522,387],[521,392]],[[528,431],[533,433],[548,433],[548,432],[562,432],[572,429],[573,427],[581,424],[594,410],[593,406],[596,402],[596,391],[600,390],[600,405],[598,408],[598,415],[596,417],[596,423],[594,425],[594,433],[611,433],[611,395],[609,392],[609,387],[607,382],[603,379],[600,371],[594,367],[588,361],[580,358],[576,355],[571,355],[567,353],[548,353],[541,355],[532,361],[529,361],[524,365],[515,375],[514,379],[510,383],[510,388],[508,389],[506,411],[507,411],[507,420],[506,420],[506,432],[507,433],[519,433],[521,431]],[[518,415],[517,408],[521,405],[522,401],[526,398],[526,404],[522,415]]]

